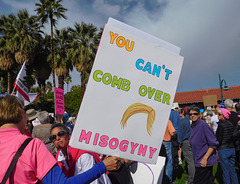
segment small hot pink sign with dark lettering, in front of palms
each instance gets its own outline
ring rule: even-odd
[[[64,115],[64,90],[54,87],[55,114]]]

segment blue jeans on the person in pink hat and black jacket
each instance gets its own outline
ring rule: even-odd
[[[235,165],[235,149],[220,149],[218,156],[223,171],[223,181],[225,184],[239,184]]]

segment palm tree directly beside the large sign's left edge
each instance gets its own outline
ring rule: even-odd
[[[70,29],[73,35],[69,57],[78,72],[81,73],[82,98],[86,89],[89,74],[94,62],[99,36],[97,27],[93,24],[75,23],[74,29]]]

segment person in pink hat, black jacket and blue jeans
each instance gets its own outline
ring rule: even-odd
[[[218,128],[216,137],[219,142],[218,156],[223,171],[224,183],[238,184],[238,176],[235,169],[235,147],[233,142],[233,125],[228,120],[231,112],[227,109],[218,110]]]

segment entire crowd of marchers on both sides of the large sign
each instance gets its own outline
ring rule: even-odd
[[[25,109],[15,96],[0,98],[1,183],[130,184],[131,161],[69,145],[76,117],[65,113],[55,118],[47,111]],[[11,166],[24,144],[16,166]],[[220,164],[224,183],[238,184],[240,103],[226,99],[203,113],[194,105],[172,108],[160,154],[166,157],[163,184],[174,183],[183,161],[186,183],[214,183],[213,166]]]

